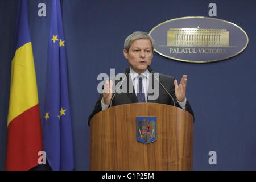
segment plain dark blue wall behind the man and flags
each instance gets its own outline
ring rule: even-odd
[[[38,16],[38,3],[47,16]],[[68,56],[76,170],[89,168],[87,119],[98,97],[97,76],[128,67],[123,42],[134,31],[149,32],[157,24],[183,16],[208,16],[208,5],[217,5],[217,17],[243,28],[249,45],[231,59],[208,64],[181,63],[155,53],[152,68],[180,80],[188,75],[187,98],[195,112],[195,170],[255,170],[256,154],[256,3],[206,0],[64,0],[63,21]],[[15,0],[0,2],[0,170],[5,167],[6,122],[9,106],[11,59],[14,51]],[[47,68],[50,1],[28,2],[30,31],[41,113]],[[42,114],[43,118],[43,114]],[[217,164],[208,163],[209,151]]]

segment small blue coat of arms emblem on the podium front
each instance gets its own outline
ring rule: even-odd
[[[156,140],[156,117],[137,117],[137,141],[144,144]]]

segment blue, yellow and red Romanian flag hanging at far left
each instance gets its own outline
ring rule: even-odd
[[[28,170],[38,165],[38,152],[43,148],[27,0],[18,2],[15,36],[7,121],[6,170]]]

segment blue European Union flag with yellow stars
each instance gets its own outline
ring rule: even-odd
[[[43,147],[53,170],[73,170],[73,137],[69,106],[67,59],[59,0],[51,1]]]

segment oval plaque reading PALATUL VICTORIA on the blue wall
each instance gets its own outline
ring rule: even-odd
[[[150,33],[155,52],[189,63],[221,61],[248,45],[245,31],[234,23],[208,17],[183,17],[158,24]]]

